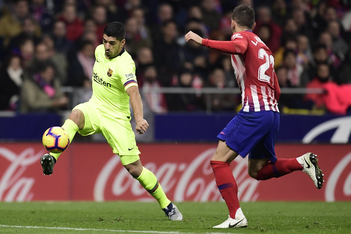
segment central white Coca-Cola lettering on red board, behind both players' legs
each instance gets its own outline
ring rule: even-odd
[[[223,201],[211,165],[209,163],[216,148],[210,148],[186,162],[149,162],[144,166],[159,179],[164,192],[174,201]],[[259,181],[247,174],[247,161],[240,157],[232,162],[241,201],[255,201]],[[173,194],[172,194],[173,192]],[[137,200],[154,199],[141,187],[121,165],[118,155],[112,157],[101,169],[94,186],[94,200],[104,201],[105,197],[119,199],[128,194]]]

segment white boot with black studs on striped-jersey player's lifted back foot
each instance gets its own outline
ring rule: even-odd
[[[319,168],[316,159],[317,155],[313,153],[305,153],[304,155],[297,158],[298,162],[303,162],[304,169],[307,175],[311,177],[316,188],[320,189],[323,186],[323,176],[322,170]]]

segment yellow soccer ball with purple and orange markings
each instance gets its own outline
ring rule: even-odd
[[[61,127],[48,128],[43,135],[43,145],[51,153],[62,153],[69,145],[69,136]]]

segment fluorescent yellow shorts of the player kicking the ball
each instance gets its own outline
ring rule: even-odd
[[[79,130],[82,136],[101,133],[113,149],[113,153],[121,158],[122,165],[135,162],[139,159],[140,151],[135,142],[135,135],[130,124],[130,116],[125,119],[113,117],[105,113],[101,107],[93,102],[84,102],[73,108],[83,112],[85,117],[84,128]],[[72,111],[73,111],[72,110]]]

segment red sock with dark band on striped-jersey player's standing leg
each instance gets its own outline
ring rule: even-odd
[[[211,167],[216,176],[216,183],[219,192],[222,195],[227,207],[229,215],[235,219],[237,209],[240,208],[238,200],[238,186],[234,179],[232,170],[229,167],[229,162],[210,161]]]

